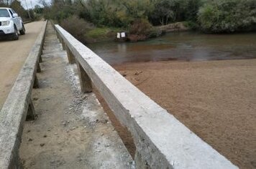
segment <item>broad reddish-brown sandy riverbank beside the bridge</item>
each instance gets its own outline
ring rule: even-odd
[[[240,168],[256,168],[256,59],[115,66]]]

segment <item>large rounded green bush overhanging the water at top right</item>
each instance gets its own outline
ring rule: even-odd
[[[198,21],[205,32],[221,33],[255,29],[256,1],[214,1],[199,9]]]

